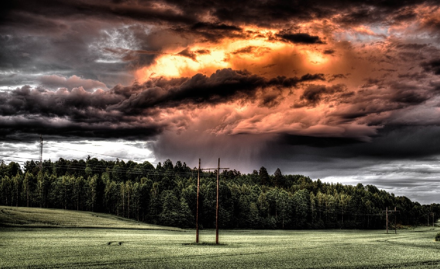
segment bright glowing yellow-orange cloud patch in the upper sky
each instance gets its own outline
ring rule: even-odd
[[[152,65],[136,70],[136,79],[144,82],[154,77],[191,77],[197,73],[209,75],[222,68],[246,69],[267,77],[290,76],[297,74],[298,70],[316,72],[331,58],[331,55],[323,54],[322,49],[309,44],[289,43],[274,38],[275,30],[249,27],[244,31],[252,33],[251,36],[225,38],[218,43],[195,42],[187,47],[165,49]]]

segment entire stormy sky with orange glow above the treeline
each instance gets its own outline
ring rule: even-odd
[[[3,5],[0,136],[42,134],[44,159],[220,158],[440,202],[435,1]],[[1,158],[35,143],[2,138]]]

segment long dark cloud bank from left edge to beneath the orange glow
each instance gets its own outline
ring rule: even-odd
[[[43,81],[52,86],[59,86],[60,83],[82,83],[90,87],[100,85],[77,77],[70,79],[72,81],[52,76],[45,77]],[[251,99],[261,89],[290,88],[316,79],[323,79],[323,74],[265,79],[247,71],[222,69],[211,76],[197,74],[191,78],[152,79],[132,86],[117,85],[107,91],[88,92],[82,86],[56,91],[23,86],[9,92],[0,92],[1,130],[6,133],[26,133],[48,128],[65,132],[66,135],[79,136],[83,132],[84,137],[95,137],[106,136],[106,129],[110,135],[113,131],[117,132],[117,129],[133,130],[136,133],[136,130],[146,128],[150,131],[145,135],[149,136],[151,133],[160,133],[168,124],[175,124],[141,118],[157,115],[160,108],[176,108],[184,104],[208,106],[242,98]],[[273,102],[268,101],[267,105],[274,105]],[[78,131],[72,134],[75,128]],[[93,132],[94,128],[96,132]],[[153,129],[156,131],[151,131]],[[126,135],[130,136],[129,132],[121,133],[121,136]]]

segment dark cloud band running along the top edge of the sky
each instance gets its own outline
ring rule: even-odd
[[[339,21],[344,23],[378,22],[391,19],[403,21],[414,18],[412,8],[415,4],[433,1],[262,1],[245,0],[236,2],[221,1],[177,1],[161,3],[151,1],[108,2],[85,0],[17,0],[8,4],[3,11],[4,23],[20,23],[16,14],[26,12],[34,16],[48,18],[95,17],[101,19],[127,19],[142,22],[186,25],[192,30],[234,30],[240,31],[233,23],[271,25],[286,20],[309,20],[343,14]],[[194,12],[194,9],[197,12]],[[210,14],[214,22],[201,22],[198,14]],[[32,17],[32,16],[31,16]],[[230,23],[228,23],[230,22]],[[232,24],[231,24],[232,23]]]

